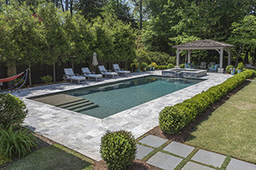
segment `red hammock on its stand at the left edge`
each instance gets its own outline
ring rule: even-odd
[[[3,82],[10,82],[10,81],[13,81],[13,80],[15,80],[16,78],[20,77],[21,75],[23,75],[23,77],[20,79],[20,82],[22,82],[22,81],[24,80],[24,82],[20,85],[19,88],[15,88],[15,87],[18,86],[18,84],[20,84],[20,82],[17,82],[13,87],[8,88],[8,89],[6,89],[6,90],[2,90],[1,92],[9,91],[9,90],[10,90],[11,92],[14,92],[15,90],[17,90],[17,91],[20,93],[19,89],[26,83],[26,78],[27,78],[28,70],[29,70],[29,69],[26,69],[26,71],[20,72],[20,74],[17,74],[17,75],[15,75],[15,76],[13,76],[13,77],[1,78],[1,79],[0,79],[0,85],[3,85]],[[14,88],[15,88],[15,90],[13,90]],[[0,90],[1,90],[1,88],[0,88]]]

